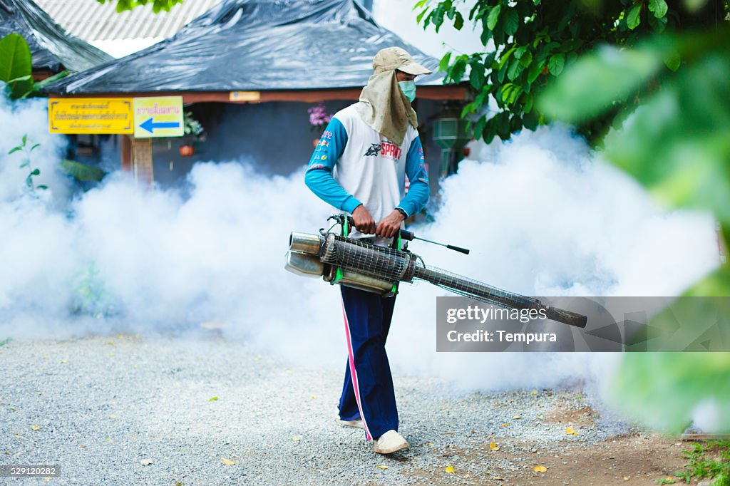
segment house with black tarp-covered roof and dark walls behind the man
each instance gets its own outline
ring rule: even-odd
[[[307,109],[334,113],[358,99],[372,57],[398,45],[434,70],[417,80],[426,154],[437,154],[429,120],[466,88],[443,85],[437,61],[374,22],[356,0],[223,0],[158,44],[74,74],[47,88],[51,98],[182,96],[205,129],[195,154],[183,140],[121,136],[121,165],[138,177],[175,184],[196,161],[247,161],[288,174],[309,161]],[[437,158],[433,159],[437,162]],[[438,163],[431,170],[437,179]],[[435,167],[434,167],[435,166]]]

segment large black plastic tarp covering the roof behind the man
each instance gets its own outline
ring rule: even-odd
[[[438,62],[380,27],[356,0],[223,0],[170,39],[66,77],[50,93],[354,88],[383,47]],[[418,84],[440,84],[442,75]]]

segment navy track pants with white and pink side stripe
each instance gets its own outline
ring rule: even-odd
[[[342,287],[342,313],[347,337],[345,385],[339,417],[361,417],[367,440],[398,430],[398,410],[385,339],[391,328],[396,298]]]

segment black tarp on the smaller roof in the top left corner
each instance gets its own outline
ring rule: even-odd
[[[20,34],[33,55],[33,69],[84,71],[114,58],[72,36],[31,0],[0,0],[0,39]]]

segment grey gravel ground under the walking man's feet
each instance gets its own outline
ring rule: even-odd
[[[292,368],[219,338],[10,342],[0,347],[0,464],[57,464],[61,477],[0,484],[459,485],[496,482],[495,471],[514,484],[536,452],[621,428],[585,420],[592,409],[576,390],[464,394],[396,376],[411,447],[383,457],[334,423],[342,371]],[[491,441],[510,454],[491,453]]]

